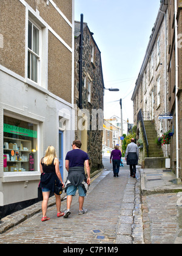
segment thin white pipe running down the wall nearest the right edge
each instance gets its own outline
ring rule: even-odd
[[[178,22],[177,22],[177,0],[175,0],[175,111],[176,111],[177,179],[178,179],[179,178],[179,141],[178,141]]]

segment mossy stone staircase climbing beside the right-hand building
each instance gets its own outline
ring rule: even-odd
[[[155,130],[155,124],[152,121],[144,121],[146,129],[147,140],[149,143],[149,157],[144,160],[145,168],[164,168],[165,158],[161,147],[159,147],[155,139],[157,138],[157,131]]]

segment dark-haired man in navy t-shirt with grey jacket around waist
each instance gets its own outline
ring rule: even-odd
[[[79,193],[79,215],[87,213],[83,208],[84,198],[87,193],[87,186],[90,185],[90,166],[89,156],[81,150],[81,141],[74,140],[71,151],[66,154],[66,170],[68,171],[65,192],[67,193],[67,210],[64,212],[64,218],[70,215],[72,196],[75,195],[76,189]],[[87,178],[84,171],[86,165]]]

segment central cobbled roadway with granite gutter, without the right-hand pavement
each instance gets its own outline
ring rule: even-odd
[[[76,195],[69,218],[57,218],[56,207],[49,207],[49,221],[42,223],[42,213],[37,213],[1,234],[0,243],[132,243],[135,183],[129,170],[120,170],[118,178],[113,177],[112,171],[104,170],[92,179],[84,202],[88,213],[78,215]],[[61,210],[64,209],[66,200],[62,201]]]

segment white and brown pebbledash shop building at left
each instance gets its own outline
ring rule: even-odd
[[[38,198],[39,162],[49,145],[66,180],[63,159],[75,137],[67,129],[75,125],[73,6],[0,1],[0,217]]]

